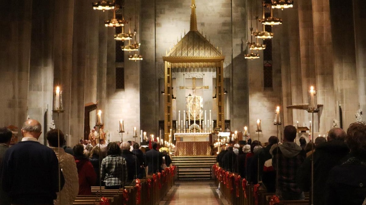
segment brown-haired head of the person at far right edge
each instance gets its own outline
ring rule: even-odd
[[[355,122],[347,129],[346,144],[351,153],[366,158],[366,124]]]

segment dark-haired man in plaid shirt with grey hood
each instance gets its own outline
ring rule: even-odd
[[[272,166],[278,172],[278,189],[280,200],[304,200],[304,192],[296,183],[296,172],[306,158],[306,152],[298,146],[294,140],[296,128],[287,125],[284,128],[283,144],[274,144],[272,154]]]

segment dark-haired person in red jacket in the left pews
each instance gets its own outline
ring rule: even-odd
[[[79,176],[79,193],[78,195],[90,195],[91,186],[96,183],[97,174],[89,159],[83,154],[84,146],[76,144],[73,148],[76,168]]]

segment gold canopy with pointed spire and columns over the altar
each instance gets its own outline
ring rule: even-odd
[[[224,130],[224,59],[202,34],[197,31],[196,5],[192,0],[190,31],[163,57],[165,64],[164,132],[172,128],[172,70],[189,68],[216,68],[217,121],[216,127]]]

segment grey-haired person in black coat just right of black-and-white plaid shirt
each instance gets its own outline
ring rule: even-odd
[[[127,182],[132,182],[137,178],[140,171],[140,162],[137,157],[130,151],[131,144],[123,142],[121,144],[121,156],[126,159],[127,163]]]

